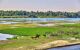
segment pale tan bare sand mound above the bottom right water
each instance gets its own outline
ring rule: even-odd
[[[56,40],[56,41],[52,41],[52,42],[49,42],[49,43],[46,43],[46,44],[42,44],[40,46],[37,46],[36,48],[37,49],[45,49],[45,48],[50,48],[52,46],[62,46],[62,45],[67,45],[69,44],[68,41],[65,41],[65,40]]]

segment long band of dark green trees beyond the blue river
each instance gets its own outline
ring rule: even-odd
[[[0,10],[0,18],[80,18],[80,12],[28,12]]]

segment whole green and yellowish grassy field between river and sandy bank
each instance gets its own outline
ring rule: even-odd
[[[35,48],[35,46],[55,40],[72,40],[75,38],[80,40],[80,24],[64,24],[51,27],[39,27],[35,24],[1,24],[0,33],[17,35],[6,41],[0,41],[1,50],[17,50],[16,48],[23,47],[24,49]],[[39,39],[31,37],[39,34]],[[46,37],[44,36],[46,35]],[[26,47],[25,47],[26,46]]]

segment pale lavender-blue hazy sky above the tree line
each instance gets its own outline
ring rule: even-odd
[[[80,0],[0,0],[0,10],[80,11]]]

